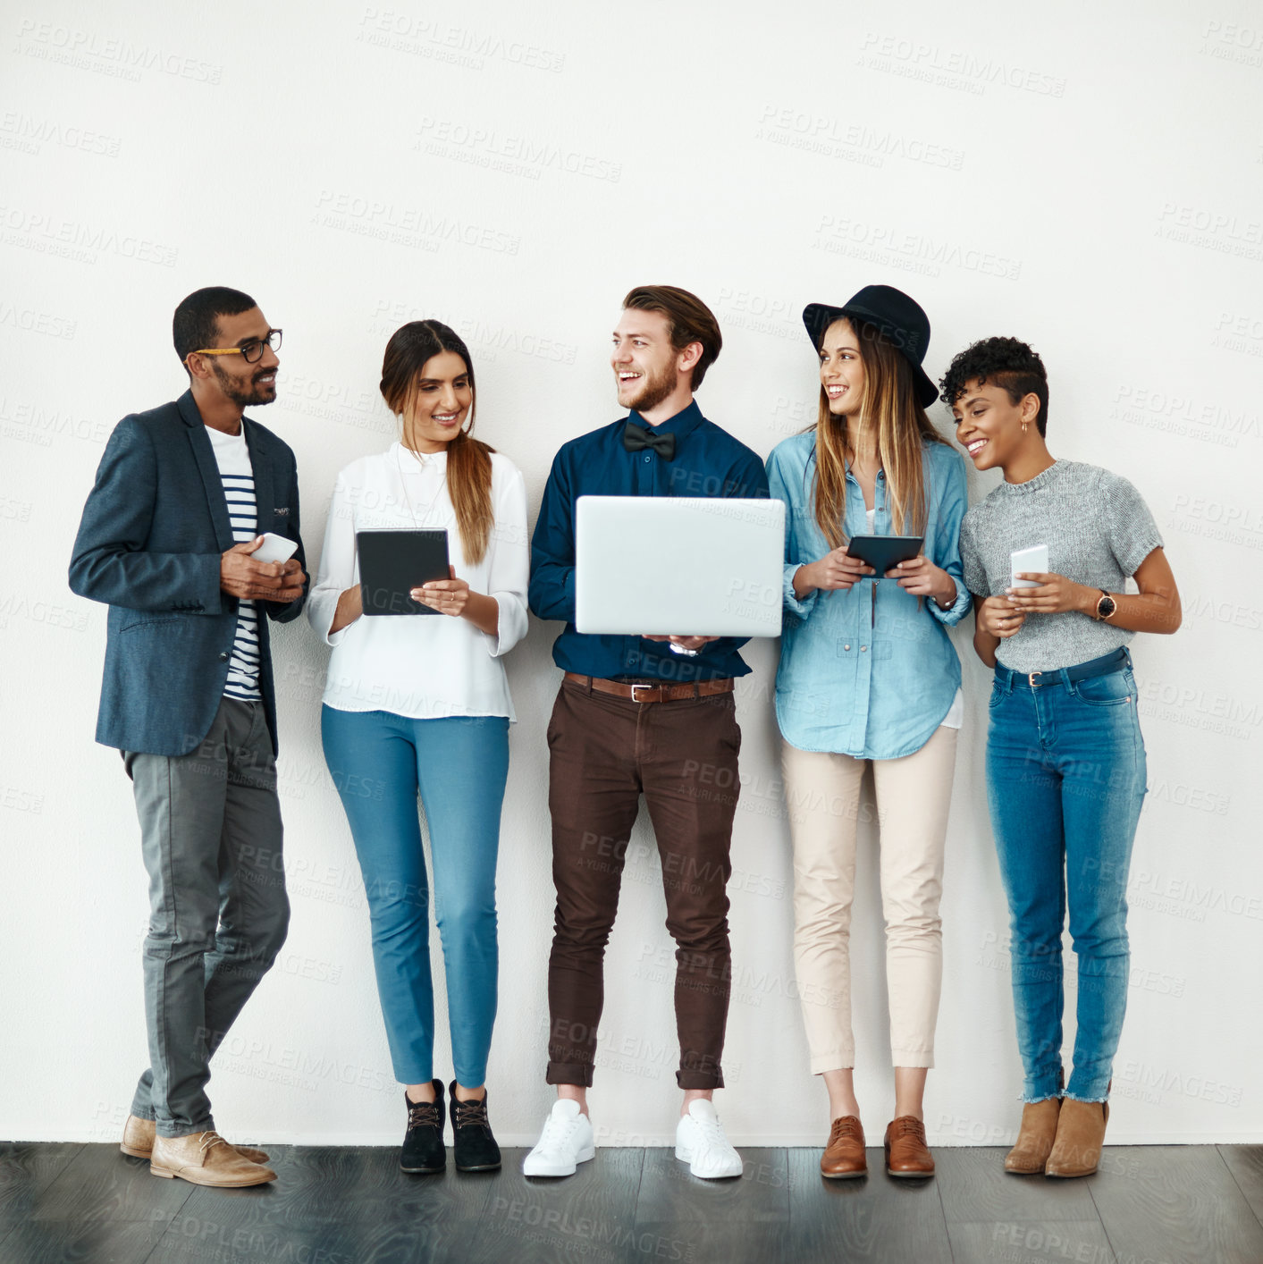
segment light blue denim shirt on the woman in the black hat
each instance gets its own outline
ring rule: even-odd
[[[778,444],[767,458],[771,494],[785,502],[785,617],[776,670],[776,722],[790,746],[861,760],[919,751],[947,717],[961,661],[947,628],[970,608],[961,566],[965,459],[946,444],[922,449],[928,513],[924,555],[956,583],[946,611],[896,580],[865,576],[847,590],[794,595],[794,573],[829,551],[815,522],[815,434]],[[846,473],[846,536],[867,535],[863,492]],[[885,474],[879,471],[874,535],[890,535]],[[876,595],[874,595],[876,590]]]

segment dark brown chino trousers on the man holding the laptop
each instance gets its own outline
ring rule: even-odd
[[[732,694],[635,703],[566,680],[547,737],[558,892],[547,1082],[592,1083],[606,943],[644,794],[675,940],[675,1078],[681,1088],[722,1088],[732,983],[728,852],[741,748]]]

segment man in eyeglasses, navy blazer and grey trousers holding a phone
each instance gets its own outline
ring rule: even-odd
[[[298,479],[243,416],[276,399],[281,330],[215,286],[176,308],[173,335],[188,389],[114,428],[70,566],[110,607],[96,739],[123,755],[149,873],[149,1067],[121,1149],[154,1176],[252,1186],[276,1173],[215,1131],[206,1083],[290,920],[268,619],[306,600]],[[293,556],[260,561],[264,544]]]

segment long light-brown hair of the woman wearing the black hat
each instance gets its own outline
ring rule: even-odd
[[[863,364],[860,413],[865,426],[877,431],[877,460],[886,473],[890,517],[895,535],[920,535],[925,530],[925,479],[923,444],[946,444],[913,391],[912,367],[903,353],[874,325],[851,326]],[[834,322],[837,324],[837,322]],[[821,334],[824,344],[826,329]],[[818,348],[819,350],[819,348]],[[853,455],[855,436],[846,417],[829,412],[829,397],[821,387],[815,421],[815,522],[831,549],[846,544],[846,459]]]

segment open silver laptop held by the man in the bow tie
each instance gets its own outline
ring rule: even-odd
[[[780,636],[783,501],[580,495],[575,618],[622,636]]]

